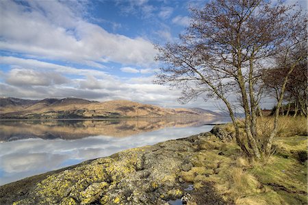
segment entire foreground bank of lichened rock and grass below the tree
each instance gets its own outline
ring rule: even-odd
[[[0,186],[0,204],[307,204],[307,136],[248,162],[225,125]],[[303,156],[303,157],[302,157]]]

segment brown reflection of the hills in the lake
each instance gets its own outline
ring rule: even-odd
[[[162,128],[184,128],[221,123],[218,118],[0,121],[0,142],[25,138],[73,140],[87,136],[124,137]]]

